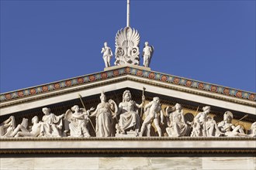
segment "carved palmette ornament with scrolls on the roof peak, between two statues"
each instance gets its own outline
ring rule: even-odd
[[[140,63],[140,35],[136,29],[126,27],[116,33],[115,65]]]

